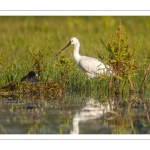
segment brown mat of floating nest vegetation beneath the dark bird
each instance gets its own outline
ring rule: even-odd
[[[0,95],[39,95],[50,99],[62,97],[63,90],[58,83],[47,82],[11,82],[7,86],[0,87]]]

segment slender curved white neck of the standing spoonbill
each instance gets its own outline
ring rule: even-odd
[[[79,49],[80,49],[80,42],[77,41],[74,44],[74,49],[73,49],[73,57],[77,63],[79,62],[80,59]]]

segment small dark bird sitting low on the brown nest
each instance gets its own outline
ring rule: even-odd
[[[38,82],[38,79],[36,78],[37,74],[34,71],[30,71],[26,76],[24,76],[20,82],[26,81],[26,82]]]

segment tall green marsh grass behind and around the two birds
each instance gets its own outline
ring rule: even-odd
[[[84,72],[79,70],[72,58],[72,47],[64,51],[60,57],[55,54],[64,47],[72,36],[81,42],[81,55],[98,58],[97,51],[103,55],[108,52],[101,39],[108,41],[110,34],[117,29],[119,21],[131,40],[131,49],[136,49],[135,61],[139,69],[133,78],[138,87],[144,77],[144,69],[148,57],[150,17],[109,17],[109,16],[12,16],[0,17],[0,85],[11,81],[20,81],[29,71],[35,70],[35,60],[41,65],[41,81],[58,82],[65,64],[68,73],[63,82],[71,91],[107,91],[108,79],[88,81]],[[62,59],[65,63],[62,64]],[[149,89],[149,80],[145,89]]]

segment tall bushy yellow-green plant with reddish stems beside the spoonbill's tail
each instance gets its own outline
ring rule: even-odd
[[[108,58],[102,58],[112,68],[112,75],[110,77],[109,90],[112,90],[112,84],[114,85],[114,93],[118,95],[124,90],[126,83],[128,83],[129,92],[134,91],[133,80],[134,72],[137,69],[134,60],[134,53],[132,53],[129,47],[130,41],[122,23],[120,22],[115,34],[111,36],[110,42],[105,44],[101,40],[105,48],[108,50]],[[122,87],[121,87],[122,82]]]

